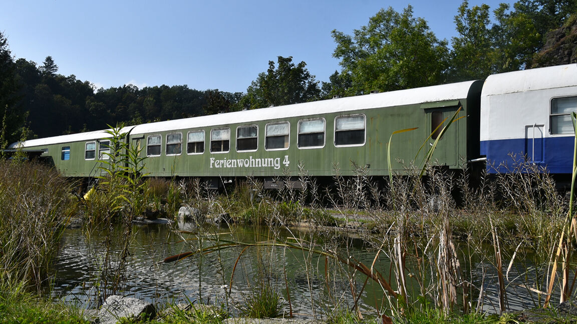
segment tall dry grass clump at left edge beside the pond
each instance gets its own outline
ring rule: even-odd
[[[50,168],[0,161],[0,283],[40,292],[77,199]]]

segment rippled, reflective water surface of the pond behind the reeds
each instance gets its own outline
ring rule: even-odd
[[[194,230],[191,224],[179,224],[179,228]],[[383,289],[371,280],[363,288],[366,278],[364,275],[357,273],[351,276],[350,269],[343,268],[334,259],[325,259],[306,248],[295,250],[253,246],[243,250],[244,247],[234,247],[198,254],[179,262],[160,263],[171,255],[196,250],[199,246],[197,244],[209,248],[218,243],[208,238],[219,238],[220,244],[226,244],[231,241],[263,241],[269,239],[269,236],[282,239],[296,236],[297,239],[303,239],[301,242],[321,243],[324,240],[322,244],[325,247],[342,251],[342,255],[353,255],[370,266],[376,253],[366,248],[358,239],[345,236],[331,239],[330,236],[318,233],[311,235],[288,231],[278,231],[272,235],[268,229],[245,227],[211,227],[202,228],[201,235],[181,234],[166,224],[135,226],[134,233],[121,292],[125,296],[153,303],[201,299],[203,303],[226,306],[235,314],[237,311],[234,306],[242,303],[243,295],[257,289],[258,282],[267,282],[284,296],[286,304],[283,311],[288,313],[291,309],[293,314],[304,317],[321,317],[335,307],[352,307],[354,298],[351,297],[351,290],[357,293],[363,291],[358,302],[363,312],[376,314],[377,308],[387,305],[386,299],[383,302]],[[84,307],[96,306],[95,282],[99,273],[99,262],[102,262],[103,241],[104,238],[98,235],[91,235],[88,240],[81,229],[69,229],[65,232],[55,264],[55,297]],[[309,243],[303,243],[303,246],[314,247],[306,244]],[[328,265],[328,270],[325,265]],[[231,282],[233,269],[235,272]],[[388,277],[390,263],[384,253],[379,254],[375,269],[380,269],[381,273]],[[499,302],[494,268],[477,263],[472,273],[478,276],[474,284],[482,286],[487,296],[483,309],[496,311]],[[510,276],[516,274],[511,273]],[[350,282],[351,278],[353,284]],[[416,286],[413,289],[415,293],[418,292]],[[527,289],[509,285],[507,293],[510,309],[533,307]]]

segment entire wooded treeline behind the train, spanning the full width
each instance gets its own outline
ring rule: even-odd
[[[353,35],[332,31],[340,71],[317,81],[305,62],[278,56],[256,76],[246,93],[159,85],[94,89],[91,81],[58,74],[47,56],[36,63],[14,58],[0,32],[0,118],[2,146],[18,138],[217,114],[393,91],[463,80],[492,73],[576,61],[577,0],[519,0],[455,8],[458,36],[438,39],[409,5],[381,9]],[[1,30],[1,26],[0,26]],[[114,73],[111,71],[110,73]],[[23,135],[24,134],[24,135]]]

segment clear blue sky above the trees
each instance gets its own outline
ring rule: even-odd
[[[409,3],[439,39],[456,36],[459,0],[0,0],[0,31],[15,58],[42,65],[50,55],[58,73],[98,87],[246,92],[279,55],[328,81],[340,71],[333,29],[351,35],[381,8],[402,12]]]

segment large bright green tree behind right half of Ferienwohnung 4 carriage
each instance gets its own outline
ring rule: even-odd
[[[440,84],[448,63],[448,47],[430,31],[410,5],[402,13],[389,7],[355,29],[353,36],[332,31],[342,74],[349,74],[346,95],[392,91]]]

